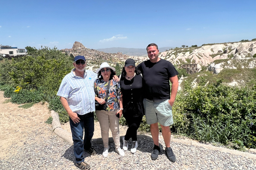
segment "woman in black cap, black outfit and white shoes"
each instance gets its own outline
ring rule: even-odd
[[[123,136],[123,150],[128,150],[128,140],[132,138],[131,153],[138,147],[137,129],[143,117],[142,74],[135,67],[133,59],[125,61],[120,77],[120,87],[123,94],[123,116],[128,124],[128,129]]]

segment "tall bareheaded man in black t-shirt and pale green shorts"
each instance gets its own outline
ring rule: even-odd
[[[170,161],[175,162],[176,157],[170,147],[171,129],[173,124],[172,106],[178,91],[178,72],[170,63],[158,57],[159,50],[155,43],[147,46],[149,60],[138,65],[142,72],[145,98],[143,100],[147,124],[154,141],[154,148],[151,153],[153,160],[157,159],[160,152],[159,147],[159,128],[162,128],[162,135],[165,142],[165,152]],[[169,80],[172,83],[170,89]],[[171,95],[170,95],[171,92]]]

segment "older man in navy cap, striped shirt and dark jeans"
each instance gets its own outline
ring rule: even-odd
[[[76,56],[73,65],[75,68],[63,78],[57,96],[60,96],[60,101],[69,115],[76,166],[88,170],[90,165],[84,162],[83,151],[91,155],[96,154],[91,147],[91,139],[94,132],[93,112],[95,111],[93,85],[97,74],[84,69],[86,66],[84,56]]]

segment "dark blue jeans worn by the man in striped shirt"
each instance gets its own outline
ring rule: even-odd
[[[84,149],[88,150],[92,143],[91,139],[94,132],[94,115],[93,112],[87,113],[85,115],[77,116],[80,118],[79,123],[74,123],[69,117],[70,128],[72,132],[72,138],[74,142],[74,155],[76,158],[76,163],[83,162],[83,152]],[[83,140],[84,133],[84,140]]]

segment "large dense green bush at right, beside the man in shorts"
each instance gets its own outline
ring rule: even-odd
[[[186,97],[184,97],[186,96]],[[185,86],[173,106],[176,129],[180,134],[204,142],[221,142],[240,149],[256,136],[255,88],[229,87],[217,80],[198,87]]]

